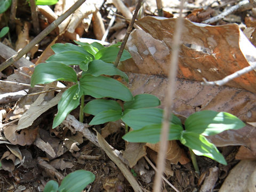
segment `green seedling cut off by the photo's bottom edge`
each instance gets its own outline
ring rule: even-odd
[[[81,192],[84,188],[93,182],[95,175],[90,171],[77,170],[69,173],[61,182],[50,180],[46,183],[44,192]]]

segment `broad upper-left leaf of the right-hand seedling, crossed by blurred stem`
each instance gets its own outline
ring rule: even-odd
[[[122,120],[132,127],[133,130],[139,130],[144,126],[151,124],[161,124],[163,117],[163,109],[159,108],[141,108],[129,110],[122,117]],[[180,125],[182,127],[180,119],[172,115],[171,123]]]

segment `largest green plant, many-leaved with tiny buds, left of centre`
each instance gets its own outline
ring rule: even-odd
[[[54,44],[54,55],[39,63],[31,76],[31,86],[47,84],[54,81],[73,82],[74,85],[63,92],[58,103],[58,113],[54,117],[52,128],[58,126],[79,105],[81,99],[80,121],[83,122],[84,95],[94,98],[110,97],[123,101],[133,100],[129,89],[117,80],[103,75],[122,76],[126,81],[128,77],[117,69],[114,62],[119,51],[119,45],[104,47],[99,43],[71,43]],[[129,59],[129,52],[124,51],[121,61]],[[75,70],[70,67],[78,65],[83,70],[82,77],[77,79]]]

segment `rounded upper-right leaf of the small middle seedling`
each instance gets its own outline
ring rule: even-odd
[[[125,109],[139,109],[148,107],[157,107],[161,104],[161,101],[152,94],[138,94],[135,95],[133,101],[124,103]]]

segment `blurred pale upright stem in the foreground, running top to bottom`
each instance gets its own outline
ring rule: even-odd
[[[165,167],[165,156],[166,156],[166,148],[167,148],[167,140],[169,135],[169,123],[172,114],[172,100],[174,97],[175,92],[175,81],[178,69],[178,58],[179,58],[179,45],[180,45],[180,38],[182,33],[182,24],[183,20],[181,18],[183,5],[185,0],[181,0],[180,2],[180,13],[179,18],[176,20],[175,23],[175,31],[173,35],[173,45],[172,45],[172,55],[171,55],[171,62],[170,62],[170,69],[169,69],[169,83],[167,85],[167,92],[165,97],[165,107],[164,107],[164,114],[163,114],[163,123],[162,123],[162,130],[161,130],[161,137],[160,137],[160,149],[158,151],[157,156],[157,172],[155,175],[154,181],[154,192],[161,191],[162,187],[162,174],[164,172]]]

